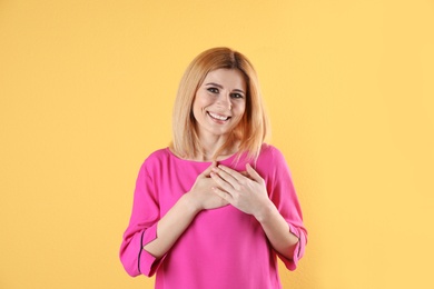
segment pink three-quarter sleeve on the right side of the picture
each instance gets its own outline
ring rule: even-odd
[[[305,252],[307,231],[303,225],[302,208],[285,158],[276,148],[273,148],[272,152],[273,161],[270,163],[273,163],[273,168],[270,168],[270,171],[273,171],[273,181],[270,182],[269,197],[288,223],[289,231],[298,238],[294,252],[292,252],[292,259],[285,258],[278,252],[276,253],[287,269],[295,270],[298,260]]]

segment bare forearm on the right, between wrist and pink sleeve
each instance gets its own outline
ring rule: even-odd
[[[270,201],[255,218],[259,221],[273,248],[288,259],[293,259],[298,238],[289,231],[289,226]]]

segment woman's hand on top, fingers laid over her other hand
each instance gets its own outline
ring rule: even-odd
[[[246,165],[245,172],[225,166],[214,167],[210,176],[220,187],[214,187],[214,192],[245,213],[260,219],[269,208],[272,201],[265,181],[250,165]]]

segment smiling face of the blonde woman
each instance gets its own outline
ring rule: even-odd
[[[208,72],[196,91],[193,113],[199,138],[226,137],[246,109],[246,81],[237,69]]]

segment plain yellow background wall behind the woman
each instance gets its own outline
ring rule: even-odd
[[[284,288],[433,288],[423,0],[0,1],[0,288],[152,288],[118,260],[136,176],[216,46],[255,64],[303,206]]]

